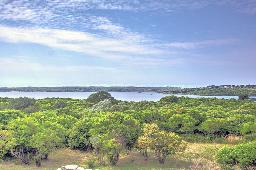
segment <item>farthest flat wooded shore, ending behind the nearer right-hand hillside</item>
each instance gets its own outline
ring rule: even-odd
[[[42,92],[75,92],[75,91],[148,91],[180,89],[179,87],[0,87],[0,91],[42,91]]]

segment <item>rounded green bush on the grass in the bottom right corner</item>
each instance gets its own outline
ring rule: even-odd
[[[256,169],[256,141],[240,143],[235,147],[224,147],[218,151],[216,162],[223,168],[239,166],[244,170]]]

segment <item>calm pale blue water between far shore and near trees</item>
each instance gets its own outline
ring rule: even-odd
[[[59,97],[59,98],[73,98],[73,99],[87,99],[88,96],[96,92],[0,92],[0,97],[9,97],[9,98],[18,98],[18,97],[30,97],[35,99],[44,99],[44,98],[52,98],[52,97]],[[111,96],[115,99],[122,100],[122,101],[158,101],[162,97],[170,96],[170,95],[163,95],[159,93],[153,92],[109,92]],[[190,97],[190,98],[219,98],[219,99],[238,99],[238,96],[196,96],[196,95],[175,95],[177,97]],[[256,97],[255,97],[256,98]]]

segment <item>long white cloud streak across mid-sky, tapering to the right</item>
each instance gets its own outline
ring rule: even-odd
[[[191,62],[187,57],[177,57],[179,53],[193,56],[190,52],[184,52],[184,50],[238,43],[237,39],[216,39],[154,44],[150,40],[146,40],[145,37],[136,34],[128,34],[126,37],[102,38],[98,37],[97,34],[86,32],[6,26],[0,26],[0,32],[2,33],[0,34],[0,40],[9,43],[35,43],[119,62],[126,67],[142,65],[147,68],[154,68],[160,65],[181,65]],[[141,42],[142,39],[145,41]],[[147,41],[150,43],[145,43]],[[193,58],[194,60],[196,59],[195,57]],[[200,59],[202,60],[203,58],[201,57]],[[22,60],[25,62],[27,59],[20,57],[20,61]],[[77,66],[74,68],[81,69],[82,67]],[[68,69],[66,68],[66,70]]]

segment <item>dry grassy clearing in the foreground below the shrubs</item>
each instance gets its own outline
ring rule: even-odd
[[[143,156],[134,151],[130,156],[125,152],[120,154],[116,167],[111,167],[106,160],[105,166],[95,166],[91,169],[99,170],[181,170],[181,169],[198,169],[198,170],[219,170],[221,169],[216,163],[214,156],[217,151],[227,145],[224,144],[205,144],[205,143],[189,143],[188,148],[181,153],[170,155],[164,164],[159,164],[158,159],[153,154],[148,161],[145,162]],[[89,152],[76,151],[71,149],[58,149],[49,155],[48,161],[43,161],[40,168],[35,167],[35,163],[31,160],[30,165],[25,165],[21,160],[12,158],[0,164],[1,170],[56,170],[63,165],[75,164],[80,167],[88,168],[86,165],[87,158],[90,157]],[[133,160],[133,162],[132,162]]]

